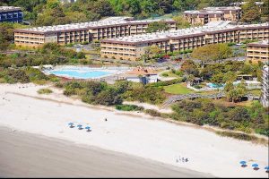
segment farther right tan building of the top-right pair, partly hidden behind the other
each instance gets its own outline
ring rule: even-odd
[[[241,19],[242,11],[240,7],[205,7],[206,11],[221,11],[224,13],[224,21],[239,21]]]

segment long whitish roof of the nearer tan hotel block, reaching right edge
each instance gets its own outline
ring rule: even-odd
[[[269,28],[269,23],[263,24],[250,24],[250,25],[230,25],[230,21],[212,21],[205,24],[202,27],[187,28],[181,30],[167,30],[155,33],[146,33],[142,35],[134,35],[120,38],[108,38],[102,39],[101,42],[108,43],[122,43],[122,44],[143,44],[157,41],[164,41],[169,39],[186,38],[201,36],[204,34],[211,34],[215,32],[227,31],[227,30],[244,30],[249,28]]]

